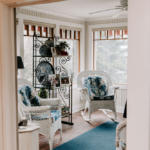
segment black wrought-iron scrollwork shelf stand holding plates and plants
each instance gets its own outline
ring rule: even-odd
[[[41,40],[47,40],[47,37],[40,37],[38,35],[33,35],[33,87],[35,90],[44,88],[47,89],[49,92],[49,98],[54,98],[57,97],[59,94],[62,102],[66,104],[65,101],[68,101],[68,106],[70,113],[68,115],[64,115],[62,117],[68,117],[68,121],[62,121],[64,124],[69,124],[73,125],[74,123],[72,122],[72,81],[73,81],[73,74],[71,74],[70,77],[70,84],[68,85],[63,85],[60,87],[53,87],[51,84],[47,85],[42,85],[38,79],[37,79],[37,72],[39,73],[40,70],[38,69],[38,65],[41,62],[48,62],[54,67],[55,74],[60,74],[61,77],[68,77],[68,72],[63,66],[66,64],[68,61],[71,60],[71,56],[41,56],[39,54],[39,49],[42,45],[40,42]],[[57,44],[59,37],[52,37],[50,38],[51,40],[54,41],[54,45]],[[46,71],[45,71],[46,72]],[[45,76],[47,73],[45,73]],[[58,94],[57,94],[58,93]]]

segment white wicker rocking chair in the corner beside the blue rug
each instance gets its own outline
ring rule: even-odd
[[[113,100],[91,100],[88,89],[83,86],[84,79],[89,76],[101,77],[107,85],[107,94],[114,95],[114,99]],[[103,110],[103,112],[106,115],[107,115],[107,109],[112,110],[114,112],[115,118],[112,118],[109,115],[107,116],[110,117],[114,121],[116,120],[117,118],[116,106],[115,106],[116,89],[119,89],[119,87],[113,87],[111,78],[106,72],[97,71],[97,70],[89,70],[89,71],[80,72],[77,76],[77,88],[81,93],[84,94],[84,97],[86,99],[85,110],[84,112],[81,111],[81,115],[86,121],[90,121],[92,112],[98,109],[105,109]],[[84,116],[87,108],[88,108],[89,118],[86,118]]]

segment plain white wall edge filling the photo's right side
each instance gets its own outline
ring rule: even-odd
[[[128,3],[127,150],[149,150],[150,0]]]

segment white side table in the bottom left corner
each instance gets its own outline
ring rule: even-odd
[[[39,150],[39,129],[37,124],[28,124],[19,129],[19,150]]]

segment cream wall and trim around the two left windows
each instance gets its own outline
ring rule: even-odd
[[[37,12],[30,9],[17,10],[18,26],[17,26],[17,53],[24,57],[24,43],[23,43],[23,20],[32,20],[37,22],[44,22],[49,24],[55,24],[55,35],[59,36],[59,25],[78,27],[82,31],[80,33],[80,71],[85,70],[85,26],[82,20],[76,20],[73,18],[57,17],[54,15],[48,15],[42,12]],[[23,70],[19,70],[20,77],[24,76]],[[76,85],[73,86],[73,112],[84,108],[85,100],[80,101],[81,93],[77,90]]]

